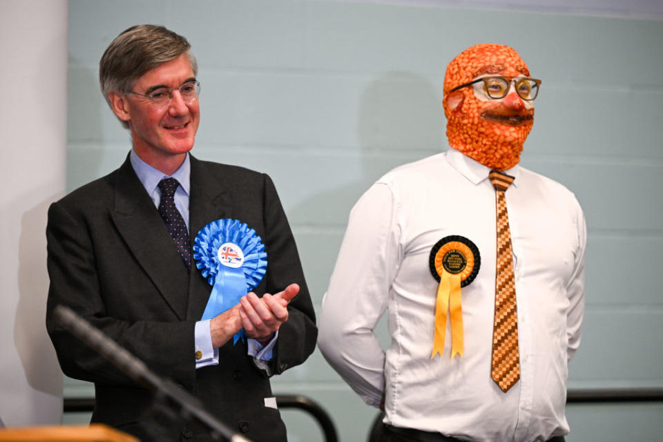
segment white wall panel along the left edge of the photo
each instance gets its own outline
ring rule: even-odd
[[[46,210],[64,192],[67,1],[0,5],[0,420],[59,423],[46,335]]]

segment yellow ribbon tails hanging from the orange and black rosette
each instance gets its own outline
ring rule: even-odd
[[[442,270],[440,285],[437,287],[435,306],[435,335],[430,358],[444,353],[444,340],[447,332],[447,311],[451,323],[451,357],[463,356],[463,309],[461,308],[461,274]]]

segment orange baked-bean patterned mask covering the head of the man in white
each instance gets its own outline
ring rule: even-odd
[[[478,44],[454,58],[444,77],[444,114],[452,148],[490,169],[503,171],[520,160],[523,143],[534,124],[534,105],[510,87],[508,95],[490,99],[483,82],[450,92],[486,75],[529,77],[518,53],[508,46]]]

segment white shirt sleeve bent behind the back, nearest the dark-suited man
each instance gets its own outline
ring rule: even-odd
[[[381,183],[354,206],[320,314],[320,351],[373,406],[381,403],[385,385],[385,352],[374,328],[402,255],[396,212],[391,189]]]

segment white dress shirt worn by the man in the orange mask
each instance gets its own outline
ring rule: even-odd
[[[564,186],[515,166],[506,191],[518,305],[521,379],[490,378],[496,211],[489,169],[450,148],[378,180],[357,202],[323,300],[318,345],[385,422],[468,441],[546,441],[568,433],[567,361],[584,311],[584,215]],[[477,245],[481,268],[463,287],[463,356],[430,358],[441,238]],[[374,327],[388,310],[383,351]]]

